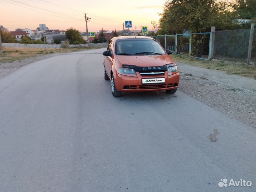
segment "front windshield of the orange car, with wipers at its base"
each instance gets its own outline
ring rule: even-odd
[[[164,49],[154,39],[119,39],[117,55],[164,55]]]

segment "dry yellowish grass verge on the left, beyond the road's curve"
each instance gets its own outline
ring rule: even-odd
[[[0,63],[9,63],[15,60],[28,59],[36,57],[37,55],[52,54],[52,53],[65,53],[75,52],[87,49],[98,49],[97,47],[77,47],[69,49],[45,49],[39,48],[20,48],[20,47],[4,47],[4,53],[0,53]]]

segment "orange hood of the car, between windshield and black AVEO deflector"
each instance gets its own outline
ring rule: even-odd
[[[174,63],[169,55],[116,55],[121,65],[163,66]]]

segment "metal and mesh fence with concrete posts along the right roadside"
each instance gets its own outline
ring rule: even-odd
[[[158,35],[162,47],[174,54],[203,60],[235,60],[256,64],[256,29]],[[251,46],[252,45],[252,46]]]

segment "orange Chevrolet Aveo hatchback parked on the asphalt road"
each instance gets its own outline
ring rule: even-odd
[[[111,79],[114,97],[122,91],[162,91],[174,94],[180,80],[178,68],[155,39],[114,37],[103,52],[104,78]]]

